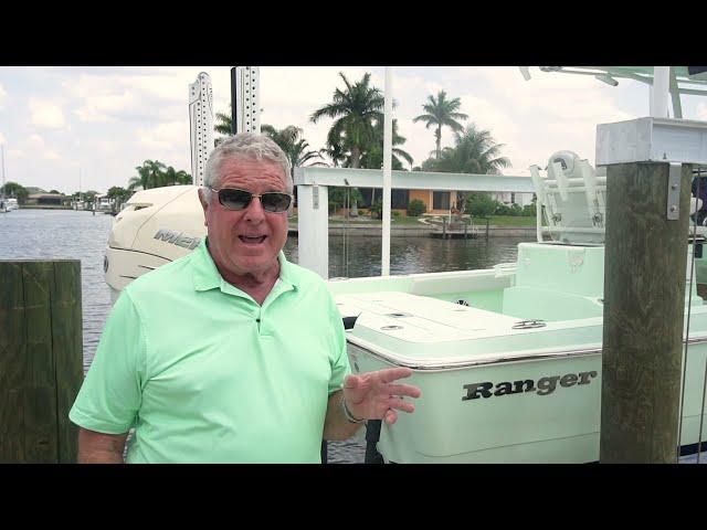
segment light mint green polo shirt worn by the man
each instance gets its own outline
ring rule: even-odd
[[[120,434],[128,463],[319,463],[327,399],[350,372],[341,317],[279,254],[262,306],[205,240],[126,287],[68,417]]]

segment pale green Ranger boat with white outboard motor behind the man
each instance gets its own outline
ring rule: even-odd
[[[602,68],[610,77],[630,73]],[[352,370],[409,367],[423,392],[414,414],[382,426],[377,449],[384,462],[599,459],[604,247],[597,215],[605,209],[605,178],[568,151],[550,157],[548,168],[546,178],[531,169],[539,198],[549,198],[539,199],[548,216],[538,219],[537,242],[518,245],[515,263],[329,280]],[[568,198],[573,186],[582,193]],[[191,252],[204,234],[196,186],[136,193],[116,216],[106,250],[114,297]],[[680,445],[690,451],[706,418],[707,306],[695,283],[687,286]]]

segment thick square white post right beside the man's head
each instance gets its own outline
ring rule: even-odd
[[[329,279],[329,193],[326,186],[297,186],[299,265]]]

